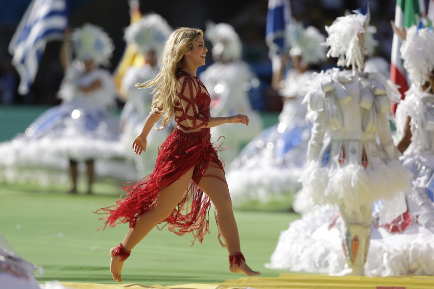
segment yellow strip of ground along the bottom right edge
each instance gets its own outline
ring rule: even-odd
[[[221,285],[255,289],[434,289],[432,276],[364,277],[281,274],[277,278],[244,277]]]

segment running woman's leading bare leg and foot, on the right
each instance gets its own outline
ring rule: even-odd
[[[234,212],[232,211],[232,200],[225,180],[224,171],[211,164],[201,178],[199,188],[210,197],[214,206],[216,206],[218,228],[226,244],[228,253],[231,255],[241,252],[241,246],[237,222],[235,221]],[[261,274],[258,271],[253,271],[243,261],[241,261],[240,266],[231,264],[229,270],[247,276]]]

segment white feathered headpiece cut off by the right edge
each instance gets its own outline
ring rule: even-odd
[[[411,26],[401,45],[404,68],[413,82],[421,87],[430,80],[434,69],[434,31],[430,27]]]

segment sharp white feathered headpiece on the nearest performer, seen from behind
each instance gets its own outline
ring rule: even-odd
[[[374,26],[369,26],[370,13],[366,14],[359,10],[355,14],[338,17],[332,25],[325,29],[329,36],[324,45],[330,47],[327,57],[338,58],[339,66],[356,67],[363,70],[364,57],[374,51],[377,42],[373,34],[376,32]]]

